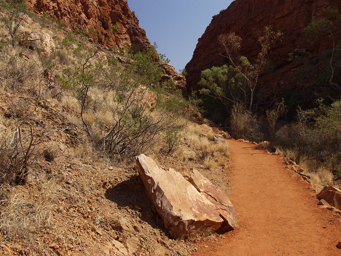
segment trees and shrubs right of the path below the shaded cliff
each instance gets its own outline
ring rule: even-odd
[[[282,95],[278,95],[282,97],[278,97],[272,110],[258,110],[257,99],[261,97],[261,90],[258,90],[259,95],[255,91],[259,77],[273,69],[267,61],[269,45],[282,36],[280,31],[273,32],[271,27],[258,33],[262,50],[253,61],[243,56],[235,59],[234,51],[242,47],[241,39],[235,33],[221,35],[217,40],[226,49],[228,65],[202,71],[199,82],[204,88],[201,93],[208,99],[204,108],[209,109],[212,100],[215,105],[217,102],[224,105],[222,111],[227,115],[214,113],[212,118],[225,123],[234,138],[271,141],[297,163],[306,165],[310,173],[318,176],[329,172],[325,184],[332,183],[332,175],[334,178],[341,175],[341,41],[332,33],[333,26],[340,19],[338,10],[330,7],[313,16],[305,29],[307,40],[314,44],[317,37],[329,34],[333,47],[317,56],[311,56],[304,49],[293,49],[289,60],[296,61],[299,66],[291,76],[281,78],[285,81],[283,84],[304,85],[311,91],[298,93],[283,88]],[[280,124],[277,124],[278,119]]]

